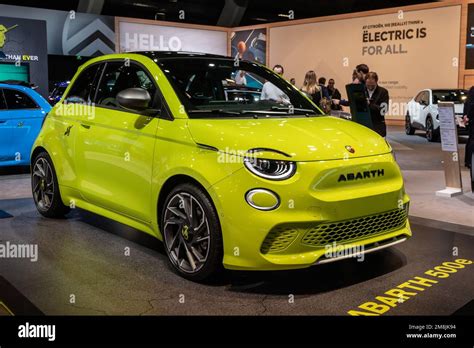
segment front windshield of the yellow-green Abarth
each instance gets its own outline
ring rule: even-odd
[[[183,57],[158,64],[191,118],[321,115],[284,78],[255,63]]]

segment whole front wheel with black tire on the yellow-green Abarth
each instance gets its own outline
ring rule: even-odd
[[[171,190],[160,214],[160,231],[169,263],[180,276],[204,282],[223,270],[217,211],[198,186],[185,183]]]

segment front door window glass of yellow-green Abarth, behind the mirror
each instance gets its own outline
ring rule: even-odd
[[[122,62],[109,62],[100,80],[95,103],[97,106],[120,108],[117,94],[127,88],[143,88],[152,98],[152,106],[156,106],[156,87],[147,72],[140,66]]]

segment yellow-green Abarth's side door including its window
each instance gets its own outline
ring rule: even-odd
[[[124,61],[106,63],[97,87],[94,115],[83,118],[76,138],[82,196],[90,203],[150,222],[151,177],[158,118],[121,108],[117,94],[157,87],[146,68]]]

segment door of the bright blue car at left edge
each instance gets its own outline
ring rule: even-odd
[[[45,110],[26,92],[4,88],[3,94],[12,117],[12,153],[15,162],[28,164],[31,147],[41,129]]]

